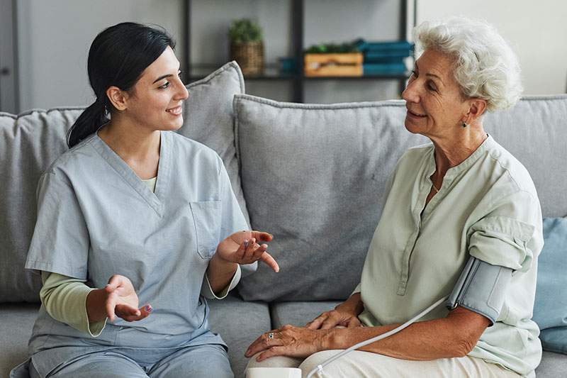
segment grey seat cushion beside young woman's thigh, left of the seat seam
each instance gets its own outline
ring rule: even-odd
[[[271,329],[268,305],[245,302],[230,294],[225,299],[208,301],[210,329],[219,333],[228,345],[228,358],[235,377],[244,377],[248,345],[258,335]]]

